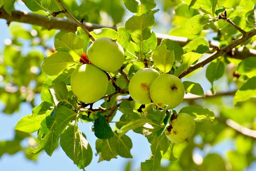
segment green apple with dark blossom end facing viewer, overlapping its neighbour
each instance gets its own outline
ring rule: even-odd
[[[150,96],[155,105],[166,109],[177,107],[184,98],[185,89],[180,78],[171,74],[158,76],[150,86]]]

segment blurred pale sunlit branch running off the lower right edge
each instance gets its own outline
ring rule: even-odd
[[[217,119],[219,122],[229,126],[230,128],[233,128],[234,130],[236,130],[237,133],[240,133],[244,136],[249,136],[253,139],[256,139],[256,130],[251,130],[249,128],[246,128],[231,119],[226,120],[226,119],[221,119],[220,117],[216,117],[215,119]]]

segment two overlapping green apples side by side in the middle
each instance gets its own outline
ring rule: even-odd
[[[129,93],[137,103],[153,102],[160,108],[173,109],[183,101],[185,89],[175,75],[160,75],[153,68],[143,68],[131,78]]]

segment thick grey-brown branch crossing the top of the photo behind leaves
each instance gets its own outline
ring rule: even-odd
[[[42,26],[48,30],[59,29],[67,32],[76,32],[77,24],[78,24],[72,20],[59,18],[59,17],[52,17],[51,20],[49,21],[48,18],[45,17],[44,15],[33,14],[25,11],[21,12],[17,10],[12,10],[12,16],[10,16],[3,9],[3,6],[0,7],[0,18],[7,20],[7,23],[11,23],[12,21],[15,21],[20,23],[27,23],[27,24]],[[79,24],[82,25],[82,23],[80,22]],[[102,26],[102,25],[93,24],[93,23],[84,22],[83,25],[88,30],[88,32],[91,32],[94,29],[102,29],[102,28],[111,28],[111,29],[117,30],[117,27]],[[160,33],[156,33],[156,35],[157,35],[158,45],[161,43],[162,39],[169,39],[172,41],[176,41],[178,44],[180,44],[180,46],[185,46],[189,41],[191,41],[188,38],[164,35]],[[209,44],[210,44],[210,47],[218,46],[214,44],[214,42],[209,42]],[[227,55],[229,55],[231,58],[245,59],[251,56],[256,56],[256,50],[246,49],[246,48],[239,50],[238,48],[236,48],[233,52],[227,53]]]

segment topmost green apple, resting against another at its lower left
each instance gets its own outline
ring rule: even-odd
[[[125,61],[125,52],[115,40],[99,38],[90,45],[88,58],[99,69],[107,72],[116,72]]]

